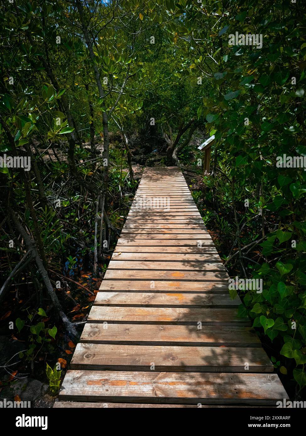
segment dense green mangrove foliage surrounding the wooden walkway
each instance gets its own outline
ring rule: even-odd
[[[261,293],[238,290],[240,314],[254,320],[275,368],[306,385],[306,173],[277,165],[284,154],[306,157],[305,15],[299,0],[1,6],[1,156],[31,156],[33,168],[0,168],[2,271],[31,279],[23,310],[41,320],[30,360],[38,337],[55,338],[58,315],[76,337],[67,317],[76,300],[58,296],[54,272],[76,271],[91,253],[102,274],[137,156],[194,174],[194,198],[230,274],[262,279]],[[261,35],[261,44],[230,45],[236,32]],[[210,135],[212,171],[203,175],[193,140]],[[11,283],[0,300],[20,332]]]

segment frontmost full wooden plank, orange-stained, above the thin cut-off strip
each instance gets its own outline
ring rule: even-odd
[[[59,399],[274,405],[288,395],[276,374],[69,370]]]

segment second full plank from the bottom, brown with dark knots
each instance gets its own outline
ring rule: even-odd
[[[274,369],[262,348],[144,347],[96,343],[77,344],[70,368],[90,371],[178,372],[273,372]]]

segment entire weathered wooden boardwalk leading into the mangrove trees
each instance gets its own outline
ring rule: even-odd
[[[179,168],[147,168],[55,407],[288,399],[240,303]]]

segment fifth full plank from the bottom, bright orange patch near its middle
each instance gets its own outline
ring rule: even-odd
[[[183,293],[140,293],[100,291],[94,302],[96,306],[129,307],[220,307],[223,309],[238,307],[241,300],[234,300],[230,294],[183,294]]]

